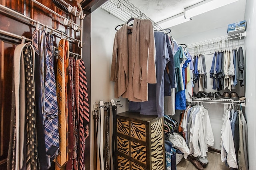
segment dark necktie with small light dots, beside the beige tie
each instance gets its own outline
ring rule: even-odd
[[[34,99],[34,66],[31,47],[24,47],[25,91],[26,91],[26,169],[38,170],[38,152],[36,141],[35,99]]]

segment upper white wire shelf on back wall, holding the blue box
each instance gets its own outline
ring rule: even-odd
[[[239,40],[239,39],[242,39],[244,37],[246,37],[246,32],[240,32],[240,33],[237,33],[237,34],[230,34],[230,35],[226,35],[226,36],[212,38],[212,39],[209,39],[209,40],[204,40],[204,41],[201,41],[201,42],[190,43],[190,44],[187,44],[187,48],[194,48],[195,46],[198,46],[198,45],[208,45],[208,44],[212,44],[212,43],[216,43],[216,42],[224,41],[224,40],[235,40],[235,39]]]

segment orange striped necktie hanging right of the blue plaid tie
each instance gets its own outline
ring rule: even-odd
[[[69,43],[65,39],[61,39],[59,43],[60,54],[58,56],[57,65],[57,101],[58,101],[58,119],[59,119],[59,135],[60,149],[56,157],[55,169],[60,170],[68,160],[68,140],[67,140],[67,79],[68,79],[68,55]]]

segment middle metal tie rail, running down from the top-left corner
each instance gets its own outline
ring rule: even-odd
[[[32,0],[32,1],[34,2],[34,0]],[[42,23],[40,23],[39,21],[36,21],[36,20],[33,20],[32,18],[29,18],[29,17],[27,17],[27,16],[24,16],[24,15],[20,14],[19,12],[16,12],[16,11],[10,9],[10,8],[7,8],[6,6],[3,6],[3,5],[1,5],[1,4],[0,4],[0,9],[6,10],[6,11],[8,11],[8,12],[14,14],[13,16],[14,16],[15,18],[17,18],[16,16],[20,16],[20,17],[22,17],[22,18],[24,18],[24,19],[26,19],[26,20],[29,20],[30,22],[34,22],[34,23],[40,24],[41,26],[46,26],[45,24],[42,24]],[[58,14],[58,15],[59,15],[59,14]],[[19,19],[19,18],[17,18],[17,19]],[[31,24],[31,25],[34,25],[34,24]],[[60,34],[60,35],[58,35],[58,34],[54,33],[54,35],[58,36],[58,38],[61,38],[61,35],[64,35],[65,37],[68,37],[68,38],[71,39],[71,40],[74,40],[74,41],[77,41],[77,42],[80,42],[80,43],[81,43],[80,40],[77,40],[77,39],[75,39],[75,38],[72,38],[72,37],[68,36],[67,34],[65,34],[65,33],[61,32],[61,31],[59,31],[59,30],[55,30],[55,29],[53,29],[53,28],[49,28],[48,26],[47,26],[47,28],[48,28],[49,30],[53,30],[53,33],[54,33],[54,32],[57,32],[58,34]]]

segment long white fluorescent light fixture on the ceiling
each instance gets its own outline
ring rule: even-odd
[[[193,16],[197,16],[199,14],[203,14],[205,12],[215,10],[217,8],[231,4],[236,1],[238,1],[238,0],[204,0],[204,1],[194,4],[188,8],[185,8],[184,12],[182,12],[182,13],[180,13],[176,16],[167,18],[165,20],[162,20],[156,24],[158,24],[162,28],[169,28],[172,26],[176,26],[176,25],[179,25],[179,24],[182,24],[184,22],[191,20],[191,17],[193,17]]]

